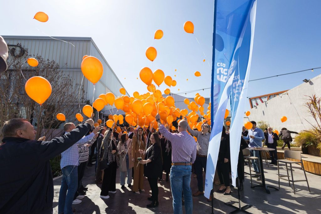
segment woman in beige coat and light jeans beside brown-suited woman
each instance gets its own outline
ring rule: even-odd
[[[134,167],[132,159],[132,139],[128,138],[128,134],[122,134],[118,143],[118,154],[120,155],[120,185],[125,188],[125,176],[127,172],[128,187],[132,186],[132,168]]]

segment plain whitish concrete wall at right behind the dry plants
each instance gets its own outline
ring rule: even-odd
[[[251,114],[248,119],[254,120],[256,123],[261,120],[266,121],[278,131],[282,127],[296,132],[310,129],[312,126],[308,122],[314,124],[315,121],[308,114],[308,108],[303,105],[307,98],[305,95],[313,96],[314,94],[318,97],[321,96],[321,75],[258,105],[257,108],[250,109]],[[282,116],[288,118],[284,123],[281,122]],[[244,118],[244,122],[248,119]]]

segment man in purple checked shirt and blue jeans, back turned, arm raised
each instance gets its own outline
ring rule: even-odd
[[[182,190],[185,200],[185,211],[193,213],[191,171],[192,163],[196,158],[196,143],[194,138],[187,133],[188,123],[181,120],[178,123],[179,133],[170,133],[160,123],[160,115],[155,116],[159,132],[172,143],[172,167],[170,169],[170,187],[173,196],[174,214],[182,213]]]

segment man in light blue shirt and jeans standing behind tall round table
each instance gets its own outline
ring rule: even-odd
[[[262,147],[262,141],[265,140],[264,132],[262,131],[262,129],[259,129],[256,127],[255,121],[251,121],[251,123],[253,124],[253,127],[252,129],[248,130],[247,136],[243,136],[243,139],[250,141],[250,143],[248,144],[249,147]],[[250,150],[251,156],[254,156],[257,158],[260,158],[259,152],[260,151],[257,151],[257,150]],[[254,171],[256,173],[259,173],[260,172],[259,160],[252,160],[252,165],[253,165]],[[254,175],[252,177],[257,177],[257,180],[261,180],[261,177],[259,175]]]

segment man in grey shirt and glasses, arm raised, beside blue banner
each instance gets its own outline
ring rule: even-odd
[[[184,120],[187,120],[186,117]],[[203,191],[203,168],[206,173],[206,162],[207,162],[207,151],[208,151],[208,143],[210,141],[211,136],[211,127],[204,123],[202,125],[202,131],[195,131],[187,125],[187,131],[191,133],[192,136],[197,138],[197,150],[196,150],[196,159],[194,163],[195,174],[197,176],[197,187],[198,191],[193,194],[193,196],[204,195]]]

